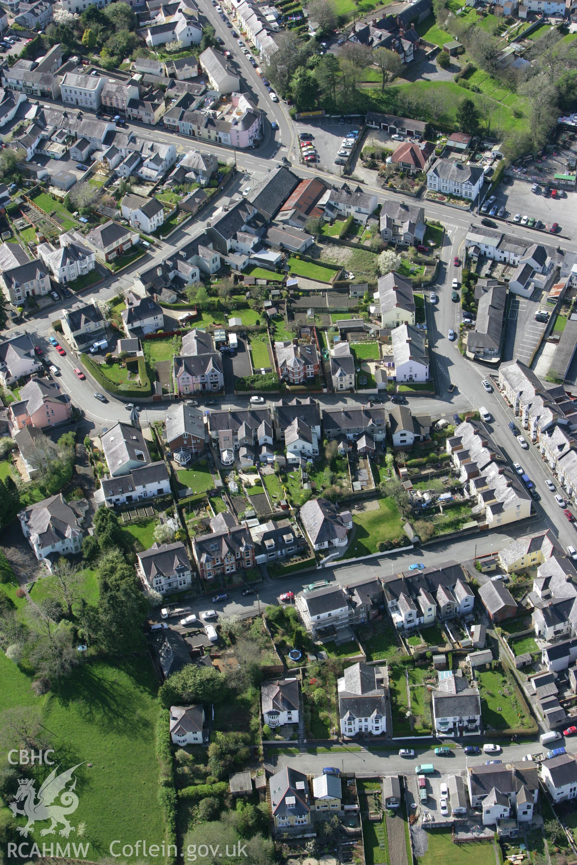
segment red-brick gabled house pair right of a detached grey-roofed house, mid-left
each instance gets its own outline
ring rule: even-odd
[[[195,537],[192,551],[202,580],[254,567],[254,542],[246,526],[230,526]]]

